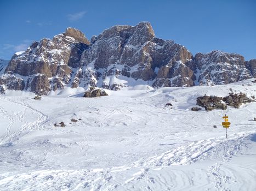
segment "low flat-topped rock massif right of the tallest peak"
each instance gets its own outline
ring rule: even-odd
[[[236,53],[222,51],[197,53],[195,63],[197,85],[227,84],[252,77],[244,57]]]

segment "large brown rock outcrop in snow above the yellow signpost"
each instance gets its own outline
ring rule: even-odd
[[[214,109],[226,110],[227,105],[234,108],[240,108],[242,104],[255,102],[255,100],[248,98],[246,94],[234,94],[230,93],[226,97],[217,96],[201,96],[197,98],[196,104],[206,109],[206,111],[211,111]]]

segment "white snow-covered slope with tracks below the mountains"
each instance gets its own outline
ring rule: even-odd
[[[255,190],[256,102],[191,111],[204,94],[256,96],[251,81],[136,86],[100,98],[82,98],[83,89],[41,100],[8,92],[0,96],[0,190]]]

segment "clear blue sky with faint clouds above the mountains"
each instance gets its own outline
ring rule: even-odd
[[[172,39],[193,55],[222,50],[256,58],[256,1],[0,1],[0,58],[67,27],[100,34],[113,25],[149,21],[158,38]]]

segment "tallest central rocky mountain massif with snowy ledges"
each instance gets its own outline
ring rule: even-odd
[[[73,87],[80,83],[119,89],[127,86],[124,80],[158,87],[193,86],[191,63],[192,55],[184,46],[156,38],[149,22],[114,26],[92,38]]]

